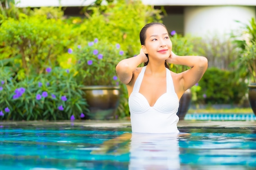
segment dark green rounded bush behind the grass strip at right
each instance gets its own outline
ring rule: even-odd
[[[235,72],[208,68],[198,83],[198,102],[204,104],[239,104],[247,91],[244,81],[234,79]]]

